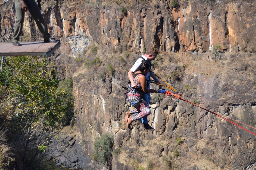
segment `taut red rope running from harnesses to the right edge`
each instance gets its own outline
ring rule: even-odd
[[[248,131],[249,133],[252,133],[252,134],[254,134],[254,135],[256,136],[256,134],[253,133],[252,131],[250,131],[250,130],[248,130],[248,129],[246,129],[246,128],[244,128],[244,127],[242,127],[242,126],[240,126],[240,125],[238,125],[238,124],[235,123],[235,122],[237,122],[237,123],[246,125],[246,124],[244,124],[244,123],[242,123],[242,122],[236,121],[236,120],[234,120],[234,119],[228,118],[228,117],[226,117],[226,116],[224,116],[224,115],[221,115],[221,114],[219,114],[219,113],[216,113],[216,112],[210,111],[210,110],[208,110],[208,109],[205,109],[205,108],[203,108],[203,107],[201,107],[201,106],[198,106],[198,105],[196,105],[196,104],[194,104],[194,103],[192,103],[192,102],[190,102],[190,101],[187,101],[187,100],[185,100],[185,99],[182,99],[181,96],[179,96],[179,95],[177,95],[177,94],[174,94],[174,93],[172,93],[172,92],[167,92],[167,91],[165,91],[164,94],[167,94],[168,96],[171,95],[171,96],[173,96],[174,99],[180,99],[180,100],[183,100],[183,101],[185,101],[185,102],[188,102],[188,103],[190,103],[190,104],[192,104],[192,105],[195,105],[195,106],[197,106],[197,107],[199,107],[199,108],[201,108],[201,109],[204,109],[204,110],[206,110],[206,111],[208,111],[208,112],[210,112],[210,113],[216,115],[217,117],[219,117],[219,118],[221,118],[221,119],[224,119],[224,120],[226,120],[227,122],[229,122],[229,123],[231,123],[231,124],[233,124],[233,125],[235,125],[235,126],[237,126],[237,127],[239,127],[239,128],[242,128],[242,129],[244,129],[244,130]],[[230,120],[228,120],[228,119],[230,119]],[[235,121],[235,122],[232,122],[231,120],[233,120],[233,121]],[[246,125],[246,126],[248,126],[248,127],[250,127],[250,128],[254,128],[254,127],[251,127],[251,126],[249,126],[249,125]],[[254,128],[254,129],[256,129],[256,128]]]

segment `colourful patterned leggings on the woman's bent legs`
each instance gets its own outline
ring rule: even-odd
[[[145,101],[143,101],[143,103],[141,103],[140,106],[130,111],[131,115],[135,113],[138,113],[138,114],[131,118],[132,121],[135,121],[137,119],[141,119],[141,118],[144,118],[145,116],[150,115],[151,111],[148,107],[148,104]]]

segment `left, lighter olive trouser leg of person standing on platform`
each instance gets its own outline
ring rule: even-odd
[[[25,17],[25,12],[22,10],[21,2],[18,0],[15,0],[15,10],[17,19],[15,21],[15,26],[13,30],[12,42],[17,42],[20,40]]]

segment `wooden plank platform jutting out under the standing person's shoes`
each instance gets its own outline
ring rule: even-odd
[[[49,57],[60,47],[60,42],[20,42],[21,46],[13,46],[12,42],[0,43],[0,56],[13,55],[46,55]]]

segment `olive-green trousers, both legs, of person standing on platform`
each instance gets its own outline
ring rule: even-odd
[[[48,33],[48,28],[44,22],[44,18],[41,14],[41,11],[37,3],[34,0],[24,0],[24,2],[27,4],[28,11],[34,18],[39,31],[44,35],[44,40],[48,41],[51,38],[51,36]],[[25,12],[22,10],[21,2],[18,0],[15,0],[15,10],[17,19],[14,26],[12,42],[19,41],[25,18]]]

